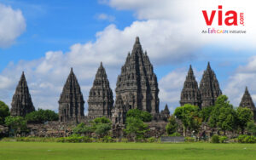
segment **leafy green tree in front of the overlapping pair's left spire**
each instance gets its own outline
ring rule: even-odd
[[[201,117],[199,117],[199,107],[190,104],[177,107],[174,115],[183,123],[183,136],[186,136],[186,131],[197,131],[201,125]]]

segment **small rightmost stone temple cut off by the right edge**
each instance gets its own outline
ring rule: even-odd
[[[241,97],[240,105],[241,107],[247,107],[251,111],[253,111],[253,119],[256,121],[256,107],[254,106],[253,99],[251,94],[249,93],[247,87],[245,89],[244,94]]]

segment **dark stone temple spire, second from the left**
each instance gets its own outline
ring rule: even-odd
[[[84,117],[84,98],[71,68],[59,100],[59,120],[79,122]]]

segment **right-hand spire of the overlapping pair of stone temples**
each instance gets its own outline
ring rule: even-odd
[[[204,74],[201,78],[200,83],[200,93],[201,93],[201,107],[213,106],[215,100],[218,96],[222,94],[219,89],[218,79],[212,71],[210,62],[208,62],[207,70],[204,71]]]

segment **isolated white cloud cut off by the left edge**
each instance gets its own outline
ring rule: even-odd
[[[0,48],[9,47],[26,30],[26,21],[20,9],[0,3]]]

